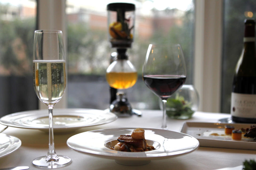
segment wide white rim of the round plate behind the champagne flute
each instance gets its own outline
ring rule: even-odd
[[[62,110],[63,111],[75,111],[75,110],[77,110],[77,111],[79,111],[79,110],[80,111],[83,111],[83,110],[84,111],[88,111],[88,110],[92,110],[92,111],[101,112],[98,115],[109,114],[110,116],[112,116],[112,118],[110,120],[108,120],[106,122],[102,122],[100,124],[93,124],[93,125],[89,125],[89,126],[79,125],[79,126],[73,126],[73,127],[72,126],[71,127],[53,127],[54,130],[80,129],[80,128],[85,128],[85,127],[98,126],[98,125],[103,125],[103,124],[111,123],[111,122],[117,120],[117,118],[118,118],[114,113],[106,112],[106,111],[100,110],[100,109],[90,109],[90,108],[56,108],[56,109],[54,109],[54,112],[56,112],[56,110],[57,111],[62,111]],[[14,128],[22,128],[22,129],[49,130],[48,127],[22,126],[22,125],[12,124],[12,123],[8,122],[8,120],[5,120],[6,118],[8,119],[8,118],[13,117],[13,116],[19,116],[19,115],[22,115],[22,114],[33,114],[33,113],[36,114],[36,112],[39,113],[39,112],[43,112],[43,111],[46,111],[46,113],[47,113],[48,110],[47,109],[38,109],[38,110],[29,110],[29,111],[22,111],[22,112],[16,112],[16,113],[7,114],[7,115],[5,115],[5,116],[0,118],[0,124],[6,125],[6,126],[10,126],[10,127],[14,127]],[[59,113],[57,113],[57,114],[59,114]],[[65,114],[65,113],[63,113],[63,114]],[[83,114],[83,113],[79,113],[79,114]],[[53,113],[53,115],[54,115],[54,113]],[[75,115],[75,113],[74,113],[74,115]],[[45,117],[45,116],[47,116],[47,114],[39,116],[37,118],[41,118],[41,117]],[[25,116],[25,117],[27,117],[27,116]]]

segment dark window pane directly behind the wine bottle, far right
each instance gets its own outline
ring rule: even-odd
[[[256,1],[225,0],[223,22],[221,112],[230,113],[230,96],[235,65],[243,48],[244,19],[254,17]]]

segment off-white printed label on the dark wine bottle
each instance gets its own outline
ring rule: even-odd
[[[256,95],[231,93],[232,116],[242,118],[256,118]]]

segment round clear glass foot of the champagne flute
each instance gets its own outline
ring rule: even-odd
[[[32,164],[37,168],[44,169],[53,169],[53,168],[61,168],[69,165],[71,163],[71,159],[67,156],[58,155],[59,160],[46,160],[46,156],[41,156],[32,161]]]

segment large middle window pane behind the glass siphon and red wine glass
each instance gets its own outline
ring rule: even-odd
[[[111,53],[107,38],[108,3],[114,1],[67,0],[68,22],[68,107],[106,109],[110,92],[106,69]],[[126,1],[130,3],[131,1]],[[133,108],[159,109],[158,97],[142,80],[142,65],[150,43],[179,43],[186,63],[186,84],[193,84],[194,3],[183,1],[133,1],[135,35],[132,48],[127,50],[129,60],[138,71],[136,84],[120,90],[127,94]]]

